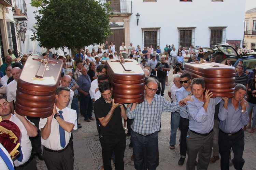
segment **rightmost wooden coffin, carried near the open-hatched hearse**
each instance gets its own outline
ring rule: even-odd
[[[191,78],[203,78],[205,88],[213,92],[215,97],[233,97],[235,86],[235,68],[219,63],[186,63],[185,72]]]

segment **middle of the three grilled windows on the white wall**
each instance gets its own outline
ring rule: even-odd
[[[179,30],[179,46],[190,47],[191,45],[195,45],[195,28],[196,27],[177,28]]]

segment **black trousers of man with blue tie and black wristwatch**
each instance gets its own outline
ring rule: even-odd
[[[74,159],[71,145],[60,153],[49,152],[43,149],[44,162],[48,170],[72,170]]]

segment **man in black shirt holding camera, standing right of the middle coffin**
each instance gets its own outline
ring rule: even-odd
[[[163,92],[165,91],[167,71],[170,71],[169,65],[165,63],[165,57],[161,56],[161,62],[156,64],[155,71],[157,71],[157,77],[162,86],[161,96],[163,96]]]

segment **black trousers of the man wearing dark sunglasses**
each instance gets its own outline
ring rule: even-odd
[[[189,119],[185,119],[185,118],[181,117],[180,124],[179,124],[179,128],[181,130],[180,152],[181,152],[181,157],[183,157],[183,158],[186,158],[186,154],[187,154],[186,137],[187,137],[188,125],[189,125]]]

